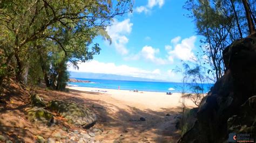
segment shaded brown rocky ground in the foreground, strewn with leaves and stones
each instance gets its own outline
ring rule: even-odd
[[[6,87],[3,99],[0,142],[175,142],[180,137],[177,109],[138,109],[97,92],[60,92],[15,82]]]

